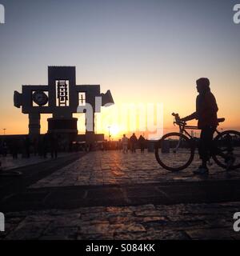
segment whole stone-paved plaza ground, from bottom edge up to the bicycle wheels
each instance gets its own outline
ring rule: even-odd
[[[72,154],[0,180],[2,239],[239,239],[240,172],[163,170],[154,154]],[[21,169],[20,169],[21,170]],[[17,186],[18,184],[18,186]],[[19,185],[20,184],[20,185]]]

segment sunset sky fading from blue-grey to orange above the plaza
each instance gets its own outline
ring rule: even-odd
[[[0,0],[6,9],[6,24],[0,25],[0,134],[3,128],[6,134],[28,132],[28,116],[14,107],[14,90],[46,85],[47,66],[76,66],[77,84],[111,90],[115,106],[102,110],[103,116],[123,103],[162,103],[165,132],[173,128],[172,112],[194,112],[195,81],[207,77],[218,116],[226,118],[222,127],[240,130],[240,24],[233,22],[238,2]],[[115,138],[130,132],[119,122],[109,124]],[[97,132],[107,134],[107,125]]]

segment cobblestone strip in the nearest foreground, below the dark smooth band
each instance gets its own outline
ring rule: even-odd
[[[240,202],[85,207],[6,214],[2,239],[239,239]]]

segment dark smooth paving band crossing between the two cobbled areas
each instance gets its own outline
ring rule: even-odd
[[[3,212],[74,209],[83,206],[172,205],[240,201],[239,180],[161,182],[132,185],[59,186],[26,189],[1,202]]]

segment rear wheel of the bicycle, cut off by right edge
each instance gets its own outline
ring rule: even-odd
[[[226,157],[234,158],[233,164],[230,166],[230,170],[240,168],[240,133],[236,130],[226,130],[221,134],[218,134],[214,138],[214,146],[218,148]],[[226,168],[227,164],[225,158],[218,154],[213,155],[214,161]]]

